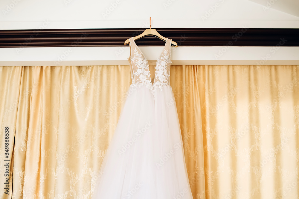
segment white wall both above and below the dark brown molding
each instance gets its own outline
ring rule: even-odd
[[[288,6],[261,0],[1,0],[0,29],[299,28]],[[272,0],[273,2],[277,0]],[[294,1],[294,0],[287,0]],[[295,0],[298,1],[298,0]],[[280,2],[281,4],[281,2]],[[114,7],[113,7],[114,6]],[[107,11],[107,10],[111,11]],[[299,47],[172,47],[173,64],[299,65]],[[67,56],[65,52],[71,49]],[[122,50],[123,49],[123,50]],[[141,47],[154,61],[159,47]],[[273,50],[273,49],[272,49]],[[120,55],[115,52],[121,51]],[[216,58],[220,51],[223,55]],[[261,61],[269,54],[268,60]],[[0,65],[127,65],[129,47],[0,48]],[[62,59],[63,58],[63,59]]]

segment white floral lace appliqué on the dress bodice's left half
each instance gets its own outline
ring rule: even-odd
[[[145,85],[147,88],[152,90],[152,82],[150,80],[147,59],[138,52],[136,47],[134,49],[134,56],[131,58],[131,61],[138,67],[136,71],[133,71],[134,76],[138,77],[136,78],[137,80],[135,84]]]

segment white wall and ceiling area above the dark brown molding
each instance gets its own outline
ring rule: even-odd
[[[267,1],[274,3],[267,7]],[[298,0],[12,2],[0,1],[0,29],[145,28],[149,17],[153,28],[299,28]]]

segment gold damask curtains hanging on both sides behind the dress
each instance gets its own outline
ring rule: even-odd
[[[298,80],[299,66],[171,67],[194,199],[298,198]],[[0,198],[91,198],[130,83],[129,66],[0,67]]]

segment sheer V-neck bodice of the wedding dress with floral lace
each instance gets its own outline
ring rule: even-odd
[[[167,38],[161,55],[158,57],[155,67],[155,77],[153,82],[150,79],[149,64],[147,58],[136,45],[133,37],[129,38],[130,56],[128,58],[131,70],[132,85],[144,85],[151,91],[159,88],[163,90],[163,86],[169,86],[170,74],[170,45],[171,39]]]

